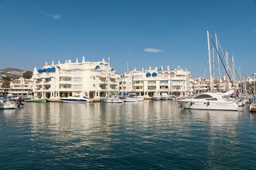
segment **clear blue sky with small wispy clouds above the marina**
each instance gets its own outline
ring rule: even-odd
[[[242,74],[256,72],[256,1],[0,0],[0,69],[109,55],[121,74],[129,62],[131,69],[180,66],[202,77],[206,29]]]

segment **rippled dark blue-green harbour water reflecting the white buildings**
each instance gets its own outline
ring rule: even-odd
[[[256,114],[175,101],[0,111],[0,169],[255,169]]]

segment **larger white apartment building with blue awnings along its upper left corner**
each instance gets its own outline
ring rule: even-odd
[[[109,60],[108,60],[109,61]],[[104,59],[99,62],[71,62],[48,64],[34,69],[34,96],[60,98],[78,94],[89,94],[99,98],[108,93],[118,93],[120,74]]]

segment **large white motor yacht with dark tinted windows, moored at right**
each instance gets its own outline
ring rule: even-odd
[[[183,108],[203,109],[203,110],[220,110],[220,111],[238,111],[240,110],[240,101],[230,100],[229,95],[233,91],[226,93],[218,93],[209,91],[204,94],[199,94],[194,98],[185,98],[179,100],[178,103]]]

